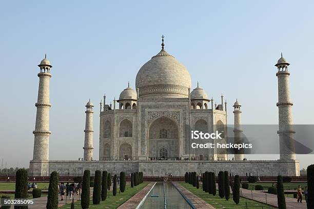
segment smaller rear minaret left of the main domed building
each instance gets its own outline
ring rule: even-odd
[[[91,160],[93,157],[93,104],[89,101],[86,104],[86,123],[85,123],[85,141],[84,141],[84,160]]]

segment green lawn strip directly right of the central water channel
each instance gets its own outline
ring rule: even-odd
[[[250,209],[267,209],[267,208],[273,208],[269,205],[259,203],[250,199],[242,198],[240,197],[240,203],[237,205],[232,200],[232,194],[230,194],[230,199],[226,201],[225,198],[220,198],[217,194],[215,196],[209,195],[208,193],[205,193],[202,191],[202,186],[200,186],[200,189],[196,189],[196,187],[193,187],[192,185],[180,182],[182,186],[184,186],[186,189],[188,189],[193,194],[197,195],[198,197],[205,200],[207,203],[211,204],[215,208],[250,208]],[[247,203],[247,207],[246,204]]]

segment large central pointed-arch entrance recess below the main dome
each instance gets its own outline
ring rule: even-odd
[[[179,158],[179,128],[172,119],[162,116],[149,126],[149,158]]]

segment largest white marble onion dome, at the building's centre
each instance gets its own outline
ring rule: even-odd
[[[191,77],[187,69],[162,49],[146,62],[136,75],[139,97],[188,97]]]

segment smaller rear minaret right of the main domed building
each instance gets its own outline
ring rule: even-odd
[[[233,105],[233,114],[234,114],[234,143],[243,143],[243,138],[242,138],[242,123],[241,123],[241,105],[237,101],[234,102]],[[234,153],[234,160],[243,160],[244,154],[243,150],[236,150],[237,152]]]

